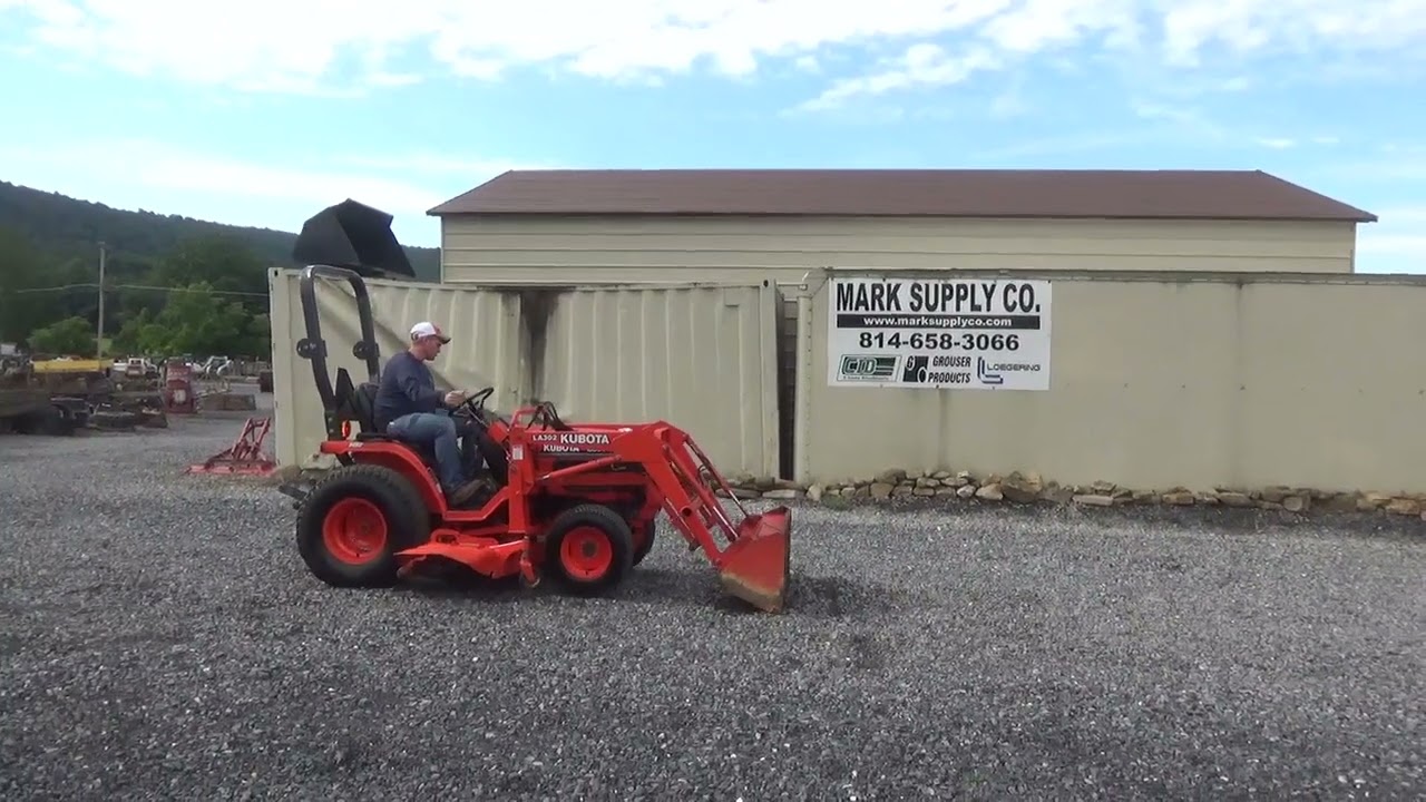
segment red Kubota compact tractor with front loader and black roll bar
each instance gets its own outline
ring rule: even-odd
[[[327,374],[318,278],[345,280],[355,294],[361,341],[352,354],[368,372],[359,385],[345,368],[338,368],[335,388]],[[493,391],[486,387],[456,412],[485,430],[479,448],[498,489],[478,509],[449,507],[434,454],[372,424],[379,350],[361,275],[309,265],[299,294],[307,338],[297,351],[312,362],[327,418],[319,451],[339,465],[311,488],[284,485],[282,492],[297,499],[298,551],[324,582],[385,587],[435,562],[491,578],[518,574],[528,587],[549,574],[572,592],[606,591],[649,554],[665,512],[690,551],[703,549],[732,595],[769,612],[783,608],[790,511],[750,515],[687,432],[663,421],[568,424],[549,402],[505,418],[486,410]],[[742,514],[737,524],[714,488]]]

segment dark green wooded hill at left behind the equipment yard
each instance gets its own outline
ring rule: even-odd
[[[93,354],[104,243],[106,354],[262,357],[267,270],[298,267],[295,241],[294,231],[113,208],[0,181],[0,342]],[[419,280],[438,280],[438,248],[408,245],[406,255]]]

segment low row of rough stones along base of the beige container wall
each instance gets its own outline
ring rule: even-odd
[[[871,479],[801,485],[787,479],[727,477],[739,498],[791,499],[814,502],[878,502],[891,498],[943,498],[947,502],[1074,504],[1082,507],[1121,507],[1154,504],[1176,507],[1235,507],[1283,509],[1296,514],[1386,512],[1419,515],[1426,519],[1426,492],[1390,494],[1376,491],[1323,491],[1315,488],[1212,488],[1212,489],[1138,489],[1112,482],[1087,487],[1060,485],[1038,474],[1014,472],[1007,477],[977,477],[971,471],[884,471]],[[723,495],[723,494],[720,494]]]

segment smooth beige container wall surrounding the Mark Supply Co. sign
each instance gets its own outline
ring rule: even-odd
[[[1423,277],[983,277],[1051,281],[1050,390],[829,387],[829,285],[813,283],[797,341],[799,479],[904,468],[1426,491]]]

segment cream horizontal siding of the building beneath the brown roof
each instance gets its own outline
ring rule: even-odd
[[[442,270],[462,284],[669,281],[683,270],[786,283],[823,265],[1352,273],[1355,240],[1352,223],[449,217]]]

